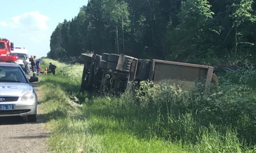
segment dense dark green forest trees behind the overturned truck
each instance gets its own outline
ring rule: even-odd
[[[251,61],[255,15],[255,0],[89,0],[53,31],[48,57],[90,51],[206,64]]]

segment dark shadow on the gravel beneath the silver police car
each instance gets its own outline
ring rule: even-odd
[[[45,114],[36,115],[37,122],[29,123],[26,116],[11,116],[11,117],[0,117],[0,126],[1,125],[15,125],[15,124],[40,124],[45,123]]]

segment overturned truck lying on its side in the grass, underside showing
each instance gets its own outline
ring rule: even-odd
[[[141,81],[176,84],[186,89],[196,81],[216,81],[213,67],[164,60],[137,59],[124,54],[82,54],[81,90],[120,94],[132,92]]]

